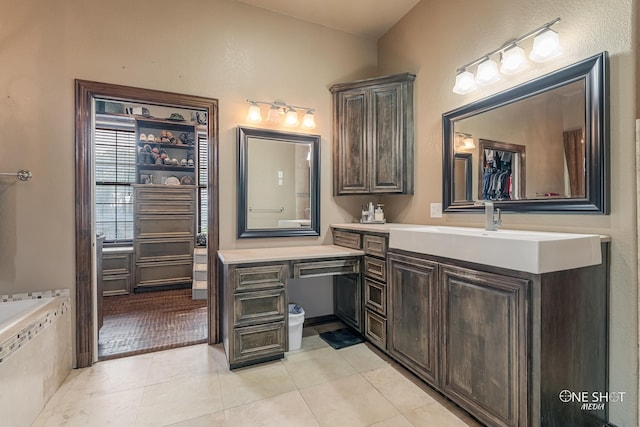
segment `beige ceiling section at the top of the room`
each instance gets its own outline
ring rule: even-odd
[[[420,0],[236,0],[334,30],[378,39]]]

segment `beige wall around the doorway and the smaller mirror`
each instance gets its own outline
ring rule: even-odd
[[[375,41],[234,1],[5,2],[0,17],[0,294],[73,288],[74,79],[219,99],[220,246],[317,244],[351,217],[331,197],[331,97],[375,75]],[[237,241],[236,136],[245,100],[316,108],[320,238]],[[356,209],[357,210],[357,209]]]

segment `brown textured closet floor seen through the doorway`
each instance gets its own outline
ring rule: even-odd
[[[207,339],[207,300],[191,289],[143,292],[104,298],[98,334],[100,360],[167,350]]]

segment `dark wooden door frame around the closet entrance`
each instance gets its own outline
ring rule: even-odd
[[[207,318],[209,344],[219,342],[218,281],[216,254],[219,246],[218,200],[218,100],[195,95],[130,86],[75,80],[75,265],[76,265],[76,367],[91,366],[96,359],[93,306],[93,99],[143,101],[149,104],[207,111]]]

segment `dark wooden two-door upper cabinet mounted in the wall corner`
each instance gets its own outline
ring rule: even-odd
[[[333,94],[334,194],[413,194],[415,75],[339,83]]]

